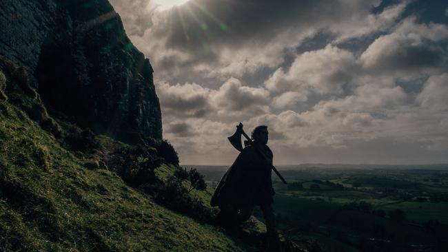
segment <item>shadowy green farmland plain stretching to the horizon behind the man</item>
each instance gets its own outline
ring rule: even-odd
[[[196,167],[215,185],[226,167]],[[446,251],[448,169],[302,165],[273,175],[278,228],[326,251]],[[255,216],[263,220],[259,209]]]

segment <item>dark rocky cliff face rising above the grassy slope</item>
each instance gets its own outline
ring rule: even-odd
[[[50,111],[121,140],[162,137],[152,66],[107,0],[3,0],[0,56]]]

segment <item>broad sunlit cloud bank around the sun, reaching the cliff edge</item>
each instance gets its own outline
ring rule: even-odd
[[[114,0],[125,13],[132,42],[150,57],[159,77],[170,81],[181,72],[208,73],[220,80],[278,67],[287,50],[328,26],[363,23],[378,1],[192,0],[170,10],[154,4]],[[347,13],[349,13],[347,15]],[[151,21],[147,18],[151,17]],[[364,22],[365,23],[365,22]],[[137,29],[138,28],[138,29]],[[145,31],[142,33],[141,30]]]

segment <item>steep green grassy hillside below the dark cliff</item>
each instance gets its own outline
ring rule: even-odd
[[[67,129],[48,116],[39,96],[24,93],[8,75],[3,82],[9,87],[3,85],[0,98],[0,251],[253,250],[130,187],[95,159],[107,156],[104,150],[68,148],[61,137]],[[33,107],[46,119],[32,120]],[[117,143],[101,137],[101,145],[108,142]],[[157,169],[170,176],[175,167]],[[206,191],[192,193],[208,199]]]

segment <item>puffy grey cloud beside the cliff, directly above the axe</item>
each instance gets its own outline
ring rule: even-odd
[[[165,118],[214,118],[242,120],[269,112],[269,91],[263,87],[248,87],[237,78],[225,81],[217,90],[197,83],[183,85],[157,84]]]

